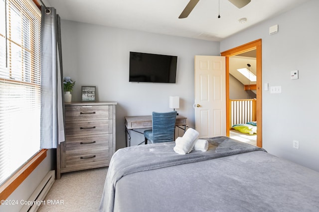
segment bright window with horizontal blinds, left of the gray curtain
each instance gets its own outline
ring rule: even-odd
[[[40,149],[40,23],[31,0],[0,0],[0,184]]]

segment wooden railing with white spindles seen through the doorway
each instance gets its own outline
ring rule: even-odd
[[[256,121],[256,99],[231,99],[230,128],[252,121]]]

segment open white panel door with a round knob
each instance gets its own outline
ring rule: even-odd
[[[226,136],[226,58],[195,56],[195,129],[200,138]]]

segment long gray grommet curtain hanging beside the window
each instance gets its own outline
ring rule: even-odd
[[[40,148],[56,148],[64,141],[60,17],[54,7],[42,6],[41,13]]]

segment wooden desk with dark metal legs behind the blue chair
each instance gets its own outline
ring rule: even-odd
[[[186,117],[177,115],[175,126],[186,131]],[[183,128],[181,128],[182,126]],[[125,138],[126,138],[126,146],[131,145],[131,131],[141,133],[139,131],[135,131],[136,129],[143,128],[152,128],[152,115],[151,116],[126,116],[125,117]],[[142,133],[141,133],[142,134]],[[127,137],[128,136],[128,137]]]

